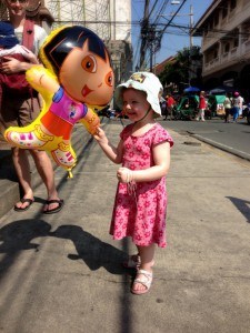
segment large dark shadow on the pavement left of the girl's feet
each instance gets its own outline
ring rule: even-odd
[[[42,220],[20,220],[0,229],[0,253],[6,255],[0,261],[0,278],[13,264],[20,251],[39,251],[37,238],[59,238],[71,240],[76,246],[76,254],[68,254],[70,260],[82,260],[91,271],[103,266],[111,274],[124,274],[121,262],[127,255],[123,251],[100,241],[98,238],[82,230],[78,225],[60,225],[50,232],[51,225]]]

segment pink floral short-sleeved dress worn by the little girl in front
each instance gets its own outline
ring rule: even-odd
[[[153,145],[173,140],[156,123],[141,137],[131,135],[133,124],[129,124],[120,134],[123,141],[122,167],[142,170],[154,165]],[[152,243],[166,248],[167,190],[166,176],[150,182],[138,182],[130,186],[118,183],[110,234],[114,240],[131,236],[134,244],[148,246]]]

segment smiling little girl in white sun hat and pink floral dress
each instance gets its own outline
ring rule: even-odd
[[[114,99],[132,121],[120,134],[114,148],[100,128],[94,138],[118,169],[119,180],[110,234],[114,240],[131,236],[138,254],[126,262],[139,268],[131,292],[147,293],[152,282],[154,244],[166,243],[166,174],[170,167],[173,141],[154,117],[161,115],[159,98],[162,85],[148,72],[138,72],[118,85]]]

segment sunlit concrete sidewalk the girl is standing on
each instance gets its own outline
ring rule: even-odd
[[[121,123],[104,122],[118,141]],[[63,210],[41,214],[41,185],[30,210],[0,219],[1,332],[250,332],[250,164],[171,134],[169,246],[150,292],[129,292],[133,246],[108,234],[118,165],[78,127],[73,179],[56,169]]]

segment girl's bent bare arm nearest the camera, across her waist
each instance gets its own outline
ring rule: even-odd
[[[153,150],[153,167],[144,170],[129,170],[128,168],[120,168],[117,176],[120,182],[128,183],[130,181],[136,182],[149,182],[161,179],[164,176],[170,168],[170,143],[162,142],[157,144]]]

